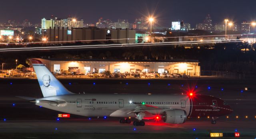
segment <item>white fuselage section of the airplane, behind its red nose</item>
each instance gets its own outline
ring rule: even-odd
[[[132,102],[132,103],[131,103]],[[181,109],[189,116],[192,101],[187,95],[140,95],[140,94],[73,94],[40,98],[36,105],[80,116],[136,117],[132,110],[148,104],[159,109],[147,110],[145,117],[161,114],[168,109]],[[162,110],[164,109],[164,110]],[[129,113],[131,112],[131,113]]]

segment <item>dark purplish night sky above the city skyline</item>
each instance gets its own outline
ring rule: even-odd
[[[228,18],[236,22],[256,19],[256,0],[1,0],[0,22],[24,19],[40,23],[42,17],[52,14],[58,18],[68,15],[95,23],[98,18],[117,21],[148,16],[150,13],[159,20],[160,26],[170,26],[172,20],[201,23],[210,14],[213,23]]]

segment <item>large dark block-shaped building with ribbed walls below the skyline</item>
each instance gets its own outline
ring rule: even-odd
[[[106,42],[106,40],[114,43],[135,43],[135,30],[130,29],[106,29],[106,28],[64,28],[53,27],[47,29],[47,41],[60,41],[59,43],[91,43],[90,40]],[[101,41],[103,40],[103,41]],[[64,42],[62,42],[64,41]]]

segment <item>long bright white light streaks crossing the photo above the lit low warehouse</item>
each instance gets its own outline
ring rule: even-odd
[[[142,45],[133,44],[133,45],[82,45],[82,46],[65,46],[65,47],[26,47],[26,48],[9,48],[9,49],[0,49],[0,52],[10,52],[10,51],[37,51],[37,50],[64,50],[64,49],[92,49],[92,48],[112,48],[112,47],[136,47],[136,46],[162,46],[162,45],[184,45],[184,44],[202,44],[202,43],[234,43],[242,41],[211,41],[211,42],[197,42],[197,43],[142,43]]]

